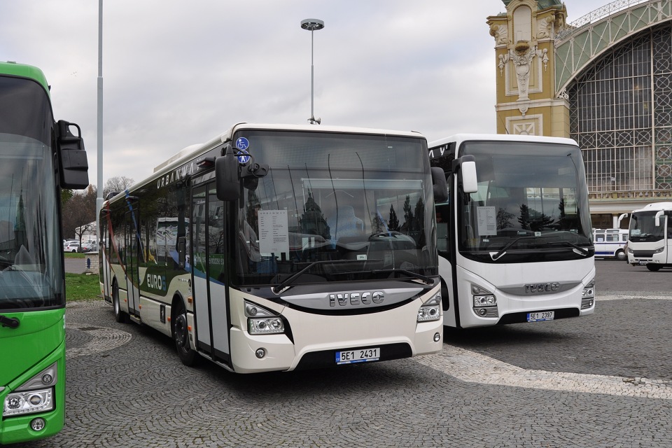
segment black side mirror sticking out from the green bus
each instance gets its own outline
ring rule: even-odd
[[[77,129],[73,135],[71,127]],[[86,160],[82,130],[74,123],[59,120],[56,123],[56,154],[61,188],[82,190],[89,186],[89,164]]]

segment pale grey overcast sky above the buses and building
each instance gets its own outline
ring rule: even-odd
[[[568,22],[608,4],[566,0]],[[231,125],[495,132],[501,0],[104,0],[103,179],[153,167]],[[2,0],[0,60],[40,67],[78,123],[97,183],[98,1]]]

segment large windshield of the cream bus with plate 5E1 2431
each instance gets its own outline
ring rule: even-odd
[[[243,135],[244,134],[244,135]],[[244,188],[241,284],[353,281],[437,274],[433,199],[423,139],[241,132],[269,165]]]

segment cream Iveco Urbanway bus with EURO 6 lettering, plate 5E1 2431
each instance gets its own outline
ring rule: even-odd
[[[244,373],[442,349],[421,134],[238,124],[186,152],[102,207],[118,321]]]

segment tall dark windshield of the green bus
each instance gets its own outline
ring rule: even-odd
[[[0,309],[64,304],[52,125],[38,83],[0,78]]]

